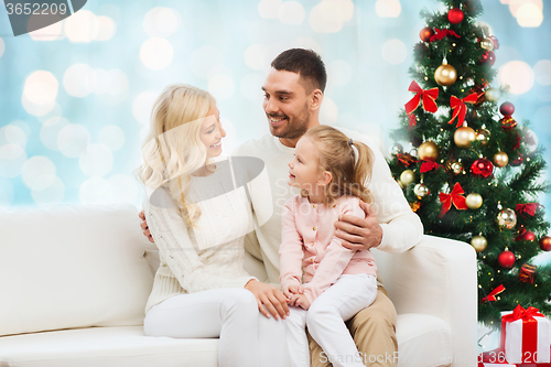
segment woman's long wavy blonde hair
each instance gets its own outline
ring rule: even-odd
[[[188,203],[186,196],[191,173],[208,163],[199,131],[215,104],[210,94],[194,86],[166,86],[153,105],[150,131],[142,143],[140,181],[153,188],[169,182],[171,196],[188,227],[201,216],[201,208]]]

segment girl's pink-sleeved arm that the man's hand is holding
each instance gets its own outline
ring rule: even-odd
[[[365,218],[365,213],[359,207],[357,199],[346,202],[346,204],[343,205],[341,214]],[[309,299],[310,303],[314,302],[323,291],[336,282],[356,252],[355,250],[343,247],[341,245],[342,241],[341,238],[333,235],[333,239],[325,250],[325,256],[320,262],[320,267],[315,271],[314,278],[304,285],[304,295]]]

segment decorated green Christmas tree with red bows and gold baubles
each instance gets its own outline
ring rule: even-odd
[[[478,320],[498,327],[518,304],[551,313],[551,269],[530,260],[551,248],[537,203],[549,192],[533,132],[496,87],[497,39],[476,23],[480,1],[442,1],[421,17],[412,98],[400,114],[389,161],[425,234],[469,242],[478,258]],[[526,125],[526,123],[525,123]],[[404,151],[402,144],[413,147]]]

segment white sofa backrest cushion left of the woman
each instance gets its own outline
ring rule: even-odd
[[[0,335],[141,325],[153,276],[134,206],[0,212]]]

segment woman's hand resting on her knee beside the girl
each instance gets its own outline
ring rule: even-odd
[[[245,289],[255,294],[257,298],[258,310],[266,317],[270,317],[270,314],[272,314],[276,320],[289,316],[287,299],[276,287],[257,280],[250,280],[247,284],[245,284]]]

